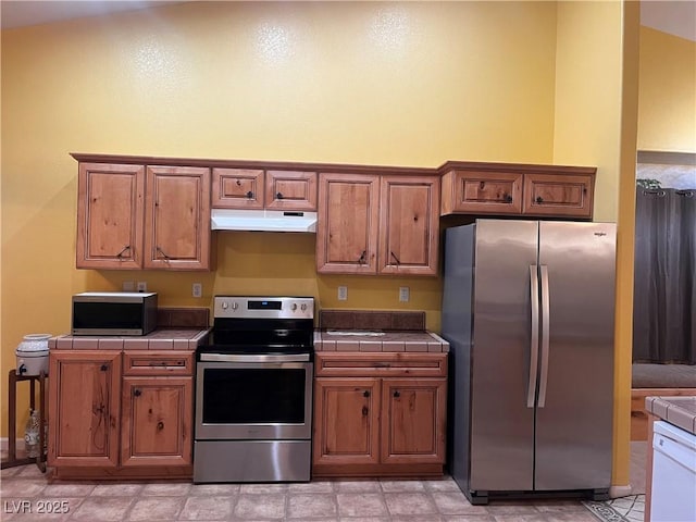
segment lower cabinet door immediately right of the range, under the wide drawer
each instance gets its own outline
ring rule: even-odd
[[[314,381],[314,464],[375,464],[380,458],[380,383]]]

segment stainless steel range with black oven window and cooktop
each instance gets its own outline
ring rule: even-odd
[[[314,299],[214,298],[197,350],[194,482],[310,480]]]

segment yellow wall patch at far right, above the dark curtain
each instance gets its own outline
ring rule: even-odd
[[[641,27],[638,150],[696,152],[696,41]]]

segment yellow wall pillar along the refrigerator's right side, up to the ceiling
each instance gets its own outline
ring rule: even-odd
[[[587,30],[592,27],[592,30]],[[618,223],[612,484],[629,486],[638,4],[561,2],[554,161],[597,165],[596,221]],[[609,199],[612,195],[613,199]],[[625,208],[630,207],[627,211]]]

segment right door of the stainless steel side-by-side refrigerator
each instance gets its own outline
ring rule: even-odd
[[[549,312],[542,318],[548,361],[536,413],[538,490],[611,484],[614,246],[614,224],[539,223]]]

